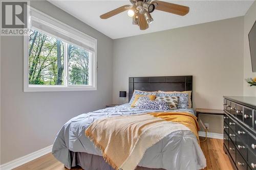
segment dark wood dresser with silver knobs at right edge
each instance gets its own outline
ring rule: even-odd
[[[224,144],[234,169],[256,169],[256,97],[224,96]]]

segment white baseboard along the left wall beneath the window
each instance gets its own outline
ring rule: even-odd
[[[39,157],[44,156],[46,154],[49,154],[50,152],[52,152],[52,145],[50,145],[49,147],[40,149],[40,150],[38,150],[36,152],[33,152],[31,154],[25,155],[23,157],[14,159],[10,162],[4,163],[4,164],[0,165],[0,169],[1,170],[13,169],[13,168],[18,167],[20,165],[28,163],[28,162],[36,159],[36,158],[39,158]]]

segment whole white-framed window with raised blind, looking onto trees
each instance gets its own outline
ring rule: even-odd
[[[96,90],[97,40],[33,8],[24,38],[24,91]]]

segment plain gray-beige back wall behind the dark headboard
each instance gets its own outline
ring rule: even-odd
[[[243,22],[237,17],[114,40],[113,101],[128,90],[128,77],[193,75],[194,108],[222,109],[223,95],[243,94]],[[222,133],[222,117],[207,117],[209,132]]]

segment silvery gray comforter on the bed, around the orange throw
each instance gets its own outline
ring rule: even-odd
[[[69,151],[102,156],[84,133],[96,119],[155,111],[131,108],[129,104],[124,104],[80,114],[70,119],[60,129],[55,138],[52,153],[67,168],[71,168]],[[194,114],[193,109],[178,109],[175,111],[186,111]],[[197,137],[191,131],[177,130],[149,148],[141,159],[139,166],[167,170],[201,169],[206,166],[206,159],[197,142]]]

